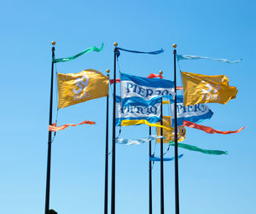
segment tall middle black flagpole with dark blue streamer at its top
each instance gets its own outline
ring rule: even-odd
[[[113,43],[113,136],[112,136],[112,182],[111,182],[111,214],[115,213],[115,90],[116,90],[116,54],[118,43]]]

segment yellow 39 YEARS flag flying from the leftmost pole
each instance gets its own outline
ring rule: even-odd
[[[88,69],[79,73],[58,73],[58,108],[108,96],[108,77]]]

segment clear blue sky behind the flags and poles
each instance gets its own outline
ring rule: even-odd
[[[236,99],[228,104],[208,104],[214,114],[203,124],[217,130],[246,126],[241,133],[226,136],[187,129],[186,143],[229,154],[211,156],[179,149],[183,153],[179,161],[180,213],[254,212],[255,1],[15,0],[0,5],[1,213],[44,213],[52,40],[56,41],[57,58],[105,44],[101,53],[58,63],[56,71],[64,73],[87,68],[106,73],[110,69],[113,77],[114,42],[125,49],[165,49],[162,55],[121,53],[120,71],[142,77],[162,70],[172,80],[172,43],[177,43],[177,54],[242,58],[237,64],[180,61],[185,72],[227,75],[230,85],[238,89]],[[181,84],[179,74],[177,81]],[[112,98],[110,103],[112,106]],[[55,118],[56,96],[54,104]],[[58,124],[96,122],[61,130],[55,136],[50,208],[60,214],[103,213],[105,117],[106,97],[59,111]],[[109,133],[111,136],[111,129]],[[121,136],[148,136],[148,127],[125,127]],[[156,145],[155,154],[159,153],[160,145]],[[173,148],[166,153],[166,157],[172,156]],[[153,209],[160,213],[159,163],[154,164],[153,185]],[[166,214],[174,213],[174,205],[174,162],[168,162]],[[148,213],[148,144],[116,145],[116,213]]]

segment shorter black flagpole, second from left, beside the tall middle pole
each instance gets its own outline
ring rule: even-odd
[[[109,70],[108,79],[109,79]],[[104,198],[104,214],[108,214],[108,98],[107,96],[107,115],[106,115],[106,151],[105,151],[105,198]]]

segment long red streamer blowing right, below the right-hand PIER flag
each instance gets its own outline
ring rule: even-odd
[[[205,126],[205,125],[201,125],[201,124],[195,124],[193,122],[190,121],[183,121],[183,125],[189,128],[194,128],[197,130],[203,130],[205,132],[207,132],[208,134],[224,134],[224,135],[228,135],[228,134],[233,134],[233,133],[238,133],[241,130],[245,129],[245,127],[241,127],[239,130],[214,130],[212,129],[212,127],[209,126]]]

